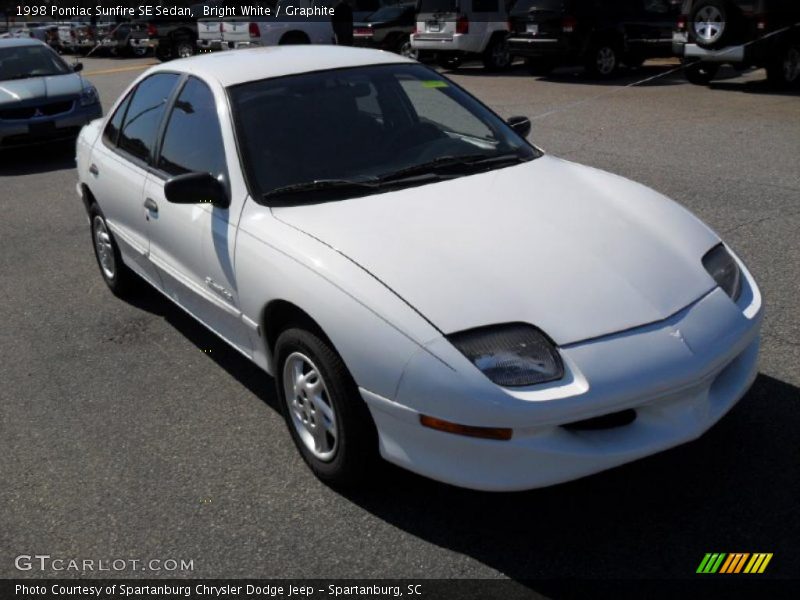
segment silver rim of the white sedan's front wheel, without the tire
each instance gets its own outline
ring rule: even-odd
[[[306,355],[293,352],[283,364],[283,389],[303,445],[317,459],[332,460],[339,442],[336,413],[320,370]]]

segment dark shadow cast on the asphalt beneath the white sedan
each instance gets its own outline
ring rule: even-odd
[[[158,292],[132,304],[163,316],[198,348],[213,348],[210,360],[278,410],[268,375]],[[760,375],[700,439],[571,483],[485,493],[385,464],[363,489],[337,492],[549,597],[581,597],[580,582],[591,589],[595,580],[616,597],[636,597],[632,580],[691,587],[706,552],[774,553],[763,582],[800,573],[798,429],[800,389]]]

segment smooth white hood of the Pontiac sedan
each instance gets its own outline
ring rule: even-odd
[[[273,212],[444,333],[526,322],[566,345],[662,320],[715,287],[701,258],[719,239],[688,211],[548,156]]]

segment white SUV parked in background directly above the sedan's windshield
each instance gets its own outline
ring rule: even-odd
[[[411,47],[445,68],[477,58],[490,71],[511,64],[506,37],[513,0],[419,0]]]

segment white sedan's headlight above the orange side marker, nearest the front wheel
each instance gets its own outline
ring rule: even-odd
[[[561,357],[545,335],[523,323],[481,327],[447,336],[497,385],[520,387],[564,376]]]

